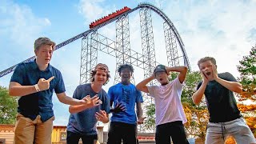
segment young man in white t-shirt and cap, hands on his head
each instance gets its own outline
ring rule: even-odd
[[[178,78],[169,82],[170,71],[179,72]],[[186,66],[167,67],[158,65],[154,74],[146,78],[136,86],[138,90],[150,93],[155,101],[156,133],[157,144],[170,144],[170,137],[174,143],[189,143],[183,123],[186,116],[182,108],[181,95],[182,83],[186,78]],[[156,78],[161,86],[146,86],[147,83]]]

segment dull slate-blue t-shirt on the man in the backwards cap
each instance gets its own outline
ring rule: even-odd
[[[102,104],[100,106],[83,110],[79,113],[70,114],[67,131],[77,134],[97,134],[96,124],[98,120],[95,117],[96,112],[99,110],[105,110],[107,114],[110,113],[110,102],[107,98],[106,91],[102,89],[99,93],[95,93],[91,88],[91,84],[87,83],[76,88],[73,98],[82,99],[86,97],[86,95],[90,95],[90,98],[92,98],[96,94],[98,94],[98,98],[102,100]]]

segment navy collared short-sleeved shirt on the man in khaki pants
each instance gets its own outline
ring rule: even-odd
[[[28,94],[18,99],[18,113],[26,118],[34,120],[37,115],[41,116],[42,122],[46,122],[54,116],[52,96],[65,92],[65,86],[62,74],[54,66],[48,65],[46,70],[39,70],[35,60],[33,62],[22,62],[18,64],[14,70],[14,74],[10,78],[10,82],[18,82],[22,86],[33,86],[38,83],[40,78],[49,79],[50,88],[34,94]]]

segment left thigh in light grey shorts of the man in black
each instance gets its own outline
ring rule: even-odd
[[[222,144],[226,140],[225,126],[221,123],[210,122],[207,125],[206,144]]]

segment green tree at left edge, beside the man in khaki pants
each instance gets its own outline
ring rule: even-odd
[[[17,98],[10,97],[7,88],[0,86],[0,124],[15,123],[17,106]]]

